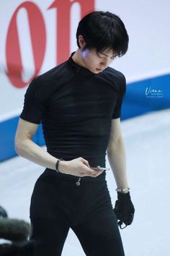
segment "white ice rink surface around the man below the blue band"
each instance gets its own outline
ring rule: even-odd
[[[125,255],[169,256],[170,110],[122,121],[122,135],[135,205],[133,224],[120,231]],[[9,217],[29,221],[32,189],[43,170],[21,157],[0,163],[0,205],[6,208]],[[111,170],[107,172],[107,182],[115,205],[116,185]],[[75,255],[85,254],[70,230],[62,256]]]

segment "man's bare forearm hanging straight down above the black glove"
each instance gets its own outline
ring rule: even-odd
[[[107,155],[112,172],[115,176],[117,188],[128,188],[125,146],[122,137],[120,140],[110,145],[109,149],[107,149]]]

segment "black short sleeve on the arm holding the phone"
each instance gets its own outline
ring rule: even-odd
[[[47,92],[42,81],[38,78],[32,80],[24,95],[24,107],[21,119],[30,121],[34,124],[40,124],[42,116],[45,112],[45,102],[47,100]]]

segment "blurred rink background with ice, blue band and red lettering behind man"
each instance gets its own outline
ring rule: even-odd
[[[43,171],[14,151],[27,86],[76,51],[76,27],[84,14],[94,9],[113,12],[130,37],[128,53],[111,65],[127,80],[122,134],[136,208],[133,225],[121,235],[126,256],[168,256],[170,1],[14,0],[0,1],[0,7],[0,205],[12,218],[29,221],[30,196]],[[41,127],[34,140],[44,146]],[[115,205],[112,171],[107,182]],[[63,250],[68,255],[84,255],[72,231]]]

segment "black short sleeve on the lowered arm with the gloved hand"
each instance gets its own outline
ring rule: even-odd
[[[126,80],[125,76],[121,73],[121,77],[119,77],[118,82],[118,88],[117,88],[117,101],[114,108],[114,111],[112,113],[112,119],[117,119],[121,116],[121,108],[122,108],[122,100],[125,96],[126,92]]]

